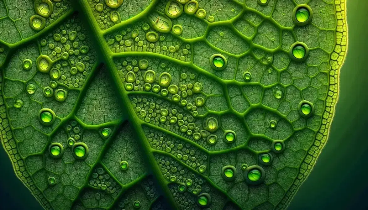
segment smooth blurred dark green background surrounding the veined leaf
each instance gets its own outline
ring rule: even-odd
[[[347,0],[349,51],[330,138],[289,209],[368,209],[368,0]],[[0,148],[0,209],[42,209]]]

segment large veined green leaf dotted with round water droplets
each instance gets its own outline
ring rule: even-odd
[[[345,4],[0,0],[15,175],[45,209],[286,209],[328,139]]]

